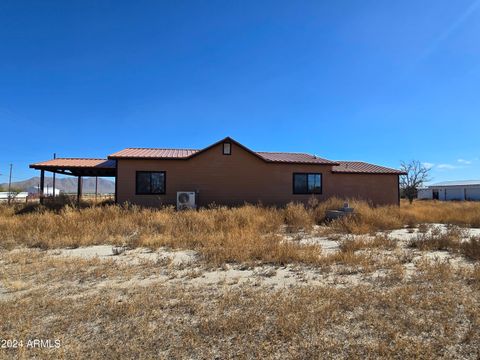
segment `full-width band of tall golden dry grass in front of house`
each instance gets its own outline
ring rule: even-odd
[[[283,232],[309,232],[325,224],[328,209],[343,201],[330,199],[285,208],[245,205],[176,212],[173,208],[136,206],[44,207],[0,206],[0,247],[40,248],[97,244],[187,248],[209,262],[315,262],[321,250],[284,241]],[[330,223],[333,233],[367,234],[419,223],[480,226],[480,203],[402,202],[400,207],[371,207],[351,201],[352,216]],[[57,204],[58,205],[58,204]]]

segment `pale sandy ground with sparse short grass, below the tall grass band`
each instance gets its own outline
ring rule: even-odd
[[[320,245],[320,265],[214,266],[188,249],[111,245],[2,250],[0,357],[479,358],[478,262],[412,247],[428,229],[322,230],[284,240]]]

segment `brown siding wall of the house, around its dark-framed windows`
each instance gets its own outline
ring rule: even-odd
[[[177,191],[197,191],[197,203],[239,205],[245,202],[284,205],[308,202],[312,195],[294,195],[294,172],[322,173],[324,200],[337,195],[360,197],[378,204],[397,203],[396,175],[332,174],[330,165],[267,163],[232,144],[232,154],[222,154],[222,144],[190,160],[118,160],[117,201],[144,206],[175,205]],[[165,171],[165,195],[136,195],[136,171]],[[394,180],[394,181],[393,181]]]

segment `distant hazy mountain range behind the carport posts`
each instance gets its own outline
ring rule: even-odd
[[[36,176],[28,180],[12,182],[12,188],[20,189],[22,191],[27,191],[28,188],[32,186],[40,185],[40,177]],[[45,188],[53,186],[53,178],[45,177]],[[0,187],[6,189],[8,184],[0,184]],[[55,187],[66,193],[76,193],[77,192],[77,178],[56,178]],[[82,191],[84,194],[95,193],[95,178],[94,177],[84,177]],[[98,178],[98,193],[99,194],[112,194],[115,192],[115,182],[107,180],[104,178]]]

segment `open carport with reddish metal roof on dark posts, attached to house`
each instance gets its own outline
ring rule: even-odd
[[[77,204],[82,198],[82,178],[89,177],[116,177],[116,160],[85,159],[85,158],[56,158],[30,164],[31,169],[40,170],[40,203],[44,203],[45,171],[53,174],[62,174],[77,177]],[[55,188],[55,176],[53,177]],[[116,189],[116,182],[115,182]],[[55,196],[55,195],[54,195]],[[117,191],[115,191],[115,201]]]

